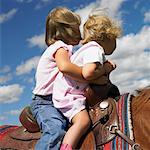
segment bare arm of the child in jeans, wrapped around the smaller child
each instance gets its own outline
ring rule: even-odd
[[[54,57],[59,71],[61,71],[64,75],[69,76],[73,80],[79,82],[87,82],[82,76],[82,67],[79,67],[70,62],[68,51],[60,48],[55,53]]]

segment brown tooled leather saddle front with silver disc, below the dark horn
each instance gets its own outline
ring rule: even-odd
[[[101,108],[101,105],[107,106]],[[110,132],[112,126],[119,128],[116,101],[113,98],[108,98],[90,107],[89,114],[93,124],[91,130],[94,133],[97,146],[108,143],[116,137],[116,134]]]

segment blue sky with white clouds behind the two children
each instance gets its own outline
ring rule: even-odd
[[[0,0],[0,125],[19,124],[31,102],[35,69],[45,49],[45,18],[65,6],[82,24],[93,8],[107,8],[123,28],[108,59],[117,64],[111,80],[121,93],[150,85],[150,5],[147,0]],[[82,26],[81,26],[82,32]]]

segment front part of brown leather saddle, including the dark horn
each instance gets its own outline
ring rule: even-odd
[[[96,145],[101,146],[108,143],[115,134],[111,132],[111,127],[119,128],[119,119],[116,108],[116,101],[120,98],[117,86],[112,83],[107,85],[90,85],[86,89],[87,108],[92,120],[92,131],[95,136]],[[107,104],[107,108],[102,110],[101,104]]]

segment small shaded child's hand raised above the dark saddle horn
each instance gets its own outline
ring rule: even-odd
[[[116,64],[113,63],[110,60],[107,60],[104,62],[104,69],[106,71],[106,74],[110,74],[111,71],[113,71],[116,68]]]

